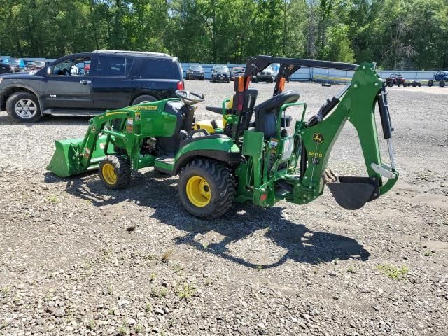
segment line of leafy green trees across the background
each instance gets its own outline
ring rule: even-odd
[[[446,0],[0,0],[0,18],[0,55],[13,57],[114,49],[448,68]]]

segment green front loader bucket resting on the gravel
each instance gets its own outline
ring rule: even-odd
[[[99,162],[106,155],[104,153],[104,143],[106,142],[106,138],[106,136],[102,136],[97,139],[90,160],[87,160],[87,157],[83,158],[81,156],[88,155],[88,153],[86,151],[83,152],[83,149],[81,148],[83,145],[83,138],[55,141],[56,151],[53,154],[47,169],[59,177],[68,177],[98,167]],[[109,144],[109,153],[114,153],[112,144]]]

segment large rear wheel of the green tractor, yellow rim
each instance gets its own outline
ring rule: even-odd
[[[179,176],[178,191],[183,207],[199,218],[225,214],[235,200],[235,179],[221,163],[195,159]]]

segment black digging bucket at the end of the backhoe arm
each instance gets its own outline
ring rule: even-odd
[[[335,182],[326,182],[337,204],[344,209],[356,210],[379,197],[378,180],[368,177],[339,176]]]

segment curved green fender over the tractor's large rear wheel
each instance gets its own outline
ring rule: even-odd
[[[181,148],[176,154],[172,174],[179,174],[182,167],[199,157],[221,162],[239,162],[241,152],[235,142],[223,134],[187,139],[181,141]]]

